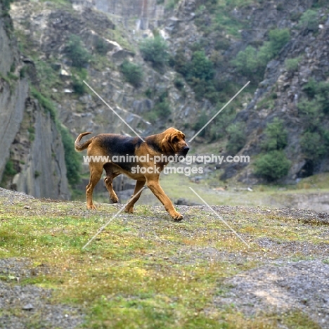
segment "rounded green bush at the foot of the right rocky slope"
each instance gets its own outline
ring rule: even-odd
[[[287,176],[290,166],[291,162],[283,150],[273,150],[260,155],[254,162],[254,174],[262,176],[268,181],[276,181]]]

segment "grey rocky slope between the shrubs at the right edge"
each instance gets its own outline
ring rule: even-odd
[[[280,27],[292,28],[292,38],[280,51],[278,56],[271,60],[264,75],[264,80],[259,84],[254,93],[254,97],[246,108],[240,111],[235,122],[244,122],[246,125],[247,143],[240,150],[240,155],[255,156],[261,152],[262,141],[264,141],[264,129],[274,117],[280,118],[284,122],[285,129],[288,130],[288,146],[285,154],[291,160],[290,172],[282,181],[294,183],[303,176],[318,174],[329,170],[328,153],[316,165],[312,165],[307,171],[308,161],[305,159],[301,146],[301,138],[305,132],[306,122],[301,115],[298,104],[307,99],[304,86],[311,79],[316,82],[328,81],[329,72],[329,20],[325,14],[325,8],[318,13],[318,18],[322,18],[323,24],[316,25],[316,30],[307,28],[297,28],[292,22],[292,13],[301,13],[311,8],[314,1],[296,1],[287,3],[289,9],[286,13],[278,16],[276,10],[271,7],[278,5],[276,1],[268,4],[262,10],[250,13],[251,20],[262,23],[262,15],[266,12],[273,15],[273,24]],[[289,14],[289,15],[288,15]],[[273,25],[272,24],[272,25]],[[263,24],[260,24],[261,26]],[[247,33],[247,32],[246,32]],[[247,33],[247,40],[257,38],[256,32]],[[262,38],[262,35],[259,37]],[[286,60],[298,58],[296,70],[288,70]],[[271,99],[272,96],[274,99]],[[328,116],[322,119],[323,128],[329,128]],[[237,176],[244,183],[257,183],[259,178],[252,174],[251,166],[245,167],[241,164],[226,166],[223,178],[228,179]]]

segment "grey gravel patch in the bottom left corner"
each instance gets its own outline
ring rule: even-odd
[[[28,259],[0,259],[0,328],[77,328],[84,321],[81,309],[53,304],[50,289],[16,283],[36,275],[31,265]]]

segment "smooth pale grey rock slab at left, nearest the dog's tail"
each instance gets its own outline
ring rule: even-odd
[[[44,112],[36,102],[27,105],[25,110],[30,112],[34,122],[34,141],[30,148],[22,151],[26,139],[20,131],[16,135],[12,158],[20,160],[21,166],[20,172],[13,177],[11,188],[37,198],[68,200],[70,191],[66,178],[65,155],[56,124],[50,113]],[[17,152],[18,150],[21,152]]]

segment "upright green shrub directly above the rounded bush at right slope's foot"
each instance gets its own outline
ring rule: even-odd
[[[288,145],[288,131],[283,127],[283,121],[277,117],[273,122],[267,124],[264,133],[266,136],[262,143],[264,150],[282,150]]]

